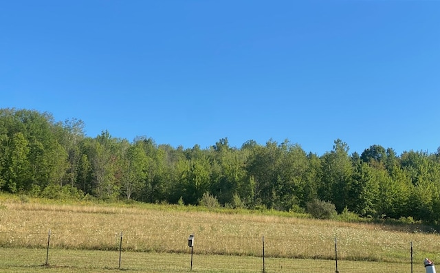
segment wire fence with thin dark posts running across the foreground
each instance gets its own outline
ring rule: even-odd
[[[278,236],[225,236],[220,241],[225,243],[212,244],[206,236],[188,237],[180,234],[179,240],[164,245],[162,238],[148,237],[144,234],[126,232],[94,234],[66,234],[56,230],[47,232],[20,233],[13,231],[0,232],[0,247],[3,249],[32,249],[38,252],[34,265],[63,265],[65,267],[83,267],[91,264],[102,268],[130,269],[148,261],[152,254],[180,254],[173,267],[192,270],[194,267],[203,272],[203,268],[214,267],[220,272],[426,272],[423,267],[425,252],[417,247],[423,242],[400,242],[401,250],[390,250],[388,254],[371,254],[375,250],[358,249],[358,253],[345,250],[347,242],[338,238],[323,238],[320,242],[304,243],[300,239],[285,239]],[[218,240],[217,240],[218,241]],[[299,243],[298,243],[299,242]],[[396,245],[396,244],[395,244]],[[395,245],[393,248],[395,248]],[[383,248],[383,246],[381,246]],[[382,249],[383,250],[383,249]],[[91,261],[90,252],[99,252],[100,264],[96,259]],[[351,248],[350,252],[353,251]],[[404,252],[405,256],[396,254]],[[66,254],[68,253],[68,254]],[[362,255],[364,253],[364,255]],[[381,252],[383,253],[383,251]],[[382,256],[380,256],[382,255]],[[29,256],[14,256],[17,263],[29,266]],[[148,261],[145,266],[170,266],[163,261]],[[222,260],[223,259],[223,260]],[[245,261],[246,262],[243,262]],[[252,259],[248,263],[248,259]],[[430,259],[440,259],[437,256]],[[38,261],[37,261],[38,260]],[[157,259],[155,259],[157,260]],[[140,262],[141,261],[141,262]],[[190,263],[189,263],[190,261]],[[217,263],[217,264],[216,264]],[[223,269],[222,269],[223,268]],[[179,271],[177,270],[177,271]],[[173,269],[170,269],[173,272]]]

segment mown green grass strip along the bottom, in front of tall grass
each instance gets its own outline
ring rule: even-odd
[[[262,272],[263,260],[252,256],[195,255],[190,271],[190,252],[119,253],[99,250],[50,250],[49,266],[45,266],[46,250],[28,248],[0,248],[0,272]],[[316,259],[265,259],[265,272],[335,272],[335,262]],[[409,263],[380,263],[340,261],[342,272],[377,273],[410,272]],[[414,266],[413,272],[425,272],[423,264]]]

